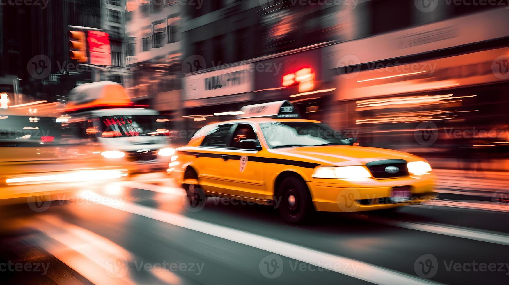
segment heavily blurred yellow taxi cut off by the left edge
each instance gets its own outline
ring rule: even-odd
[[[0,109],[0,204],[57,200],[72,189],[120,179],[127,169],[101,156],[102,148],[62,128],[44,104]],[[54,107],[51,105],[50,107]]]

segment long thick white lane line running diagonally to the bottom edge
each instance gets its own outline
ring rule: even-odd
[[[313,264],[337,273],[376,284],[437,284],[436,282],[421,279],[417,276],[345,258],[340,255],[334,255],[296,244],[235,230],[227,226],[189,218],[181,214],[161,211],[132,203],[127,203],[123,207],[116,207],[113,205],[104,206],[284,255],[291,259]],[[334,266],[337,264],[352,264],[357,268],[357,271],[355,273],[351,271],[342,271]]]

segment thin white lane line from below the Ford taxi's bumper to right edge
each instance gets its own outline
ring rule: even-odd
[[[446,235],[451,237],[458,237],[476,241],[484,241],[489,243],[496,243],[502,245],[509,245],[509,236],[501,233],[489,233],[476,231],[474,229],[467,229],[465,227],[450,226],[450,225],[438,225],[432,223],[415,223],[415,222],[404,222],[395,221],[388,219],[369,218],[369,221],[382,223],[386,225],[403,227],[404,229],[417,230],[421,232],[428,232],[439,235]]]

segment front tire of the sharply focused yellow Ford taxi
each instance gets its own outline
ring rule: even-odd
[[[279,214],[287,222],[305,223],[314,214],[311,194],[305,182],[300,177],[287,177],[279,185]],[[294,205],[289,200],[290,195],[294,196]]]

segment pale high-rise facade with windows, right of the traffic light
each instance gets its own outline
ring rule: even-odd
[[[175,117],[181,101],[182,4],[132,0],[126,7],[127,61],[132,73],[125,86],[131,100]]]

